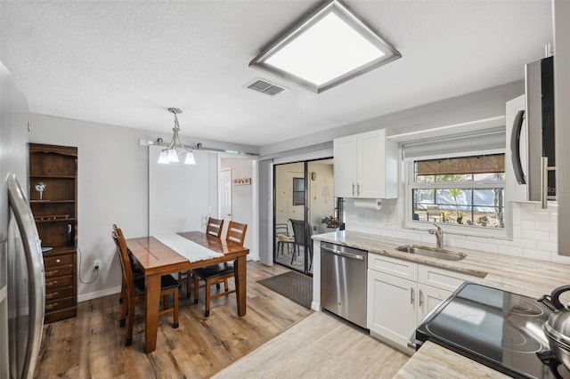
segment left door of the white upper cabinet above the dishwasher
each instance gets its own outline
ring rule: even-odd
[[[337,198],[354,198],[356,187],[356,136],[333,141],[334,193]]]

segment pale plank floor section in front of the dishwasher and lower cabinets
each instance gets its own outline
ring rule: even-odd
[[[315,312],[214,378],[392,378],[408,359],[336,316]]]

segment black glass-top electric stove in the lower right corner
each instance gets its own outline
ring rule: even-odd
[[[466,282],[416,330],[416,346],[438,343],[516,378],[570,378],[550,352],[550,310],[532,297]]]

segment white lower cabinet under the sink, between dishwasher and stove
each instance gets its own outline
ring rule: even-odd
[[[369,254],[367,327],[401,349],[419,322],[465,280],[479,278],[384,255]],[[395,267],[398,269],[395,270]]]

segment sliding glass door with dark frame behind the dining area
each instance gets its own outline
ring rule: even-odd
[[[274,165],[273,262],[313,273],[313,234],[335,214],[332,159]]]

